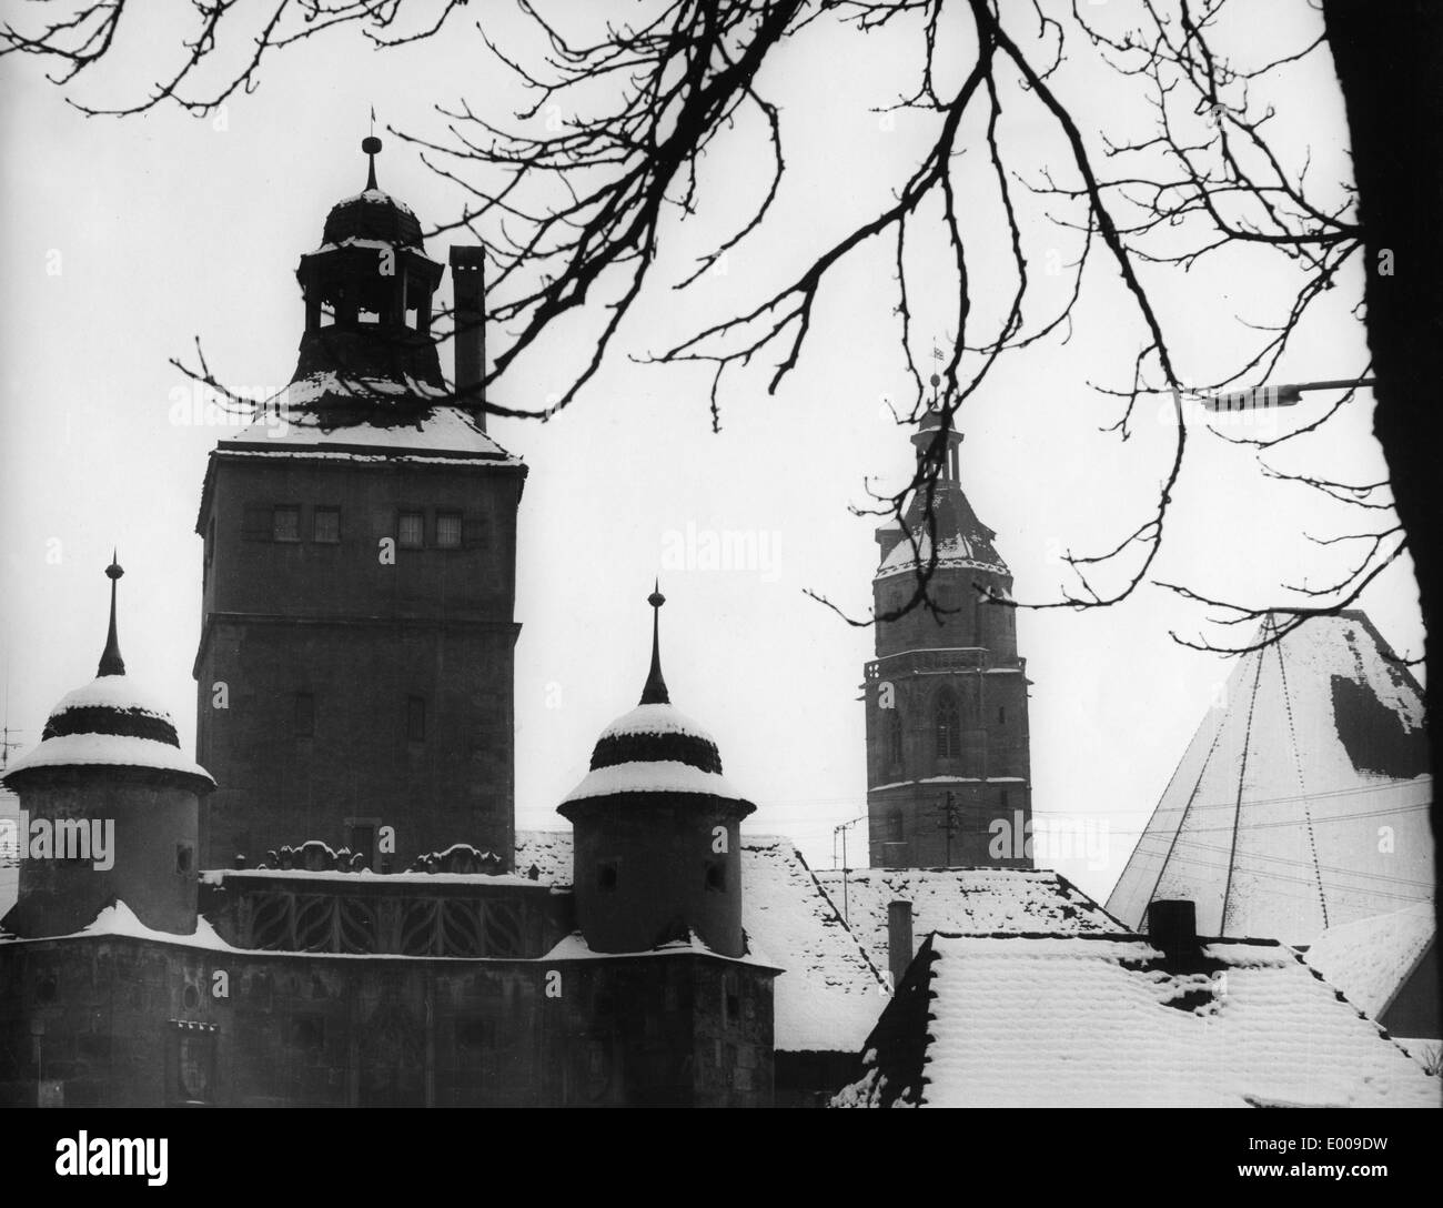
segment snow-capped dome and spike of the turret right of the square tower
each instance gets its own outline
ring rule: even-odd
[[[746,805],[722,775],[722,753],[701,726],[681,713],[667,691],[661,674],[661,606],[667,598],[654,590],[646,600],[652,606],[651,671],[642,688],[641,703],[618,717],[596,740],[592,769],[567,795],[567,804],[622,794],[683,794],[720,797]]]

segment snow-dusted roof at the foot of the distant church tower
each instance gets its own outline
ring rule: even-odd
[[[843,909],[843,875],[828,869],[817,880]],[[912,903],[912,950],[929,931],[961,935],[996,932],[1120,934],[1117,919],[1052,869],[851,869],[846,911],[861,945],[880,968],[887,958],[887,903]]]

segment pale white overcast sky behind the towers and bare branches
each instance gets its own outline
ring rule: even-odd
[[[1302,4],[1248,12],[1245,49],[1258,55],[1303,45],[1316,20]],[[530,45],[512,10],[496,13],[488,7],[488,22],[496,22],[488,29],[502,45]],[[319,242],[329,206],[364,183],[358,143],[369,107],[382,124],[440,137],[433,102],[466,95],[498,121],[519,104],[468,29],[457,23],[444,42],[384,55],[351,33],[304,43],[266,68],[254,95],[206,120],[172,110],[87,120],[38,64],[6,61],[0,661],[9,668],[9,725],[27,745],[49,707],[94,675],[104,641],[101,569],[113,544],[127,570],[127,665],[154,686],[182,742],[192,743],[201,603],[193,524],[205,456],[224,433],[170,423],[172,404],[185,397],[175,391],[190,385],[167,358],[193,359],[201,336],[228,382],[254,393],[284,385],[303,318],[293,271]],[[123,43],[95,87],[75,95],[133,98],[152,78],[137,72],[162,64],[159,45]],[[1146,115],[1128,107],[1126,88],[1074,45],[1078,62],[1058,76],[1058,88],[1079,124],[1092,131],[1105,118],[1115,128],[1126,117],[1141,128]],[[645,596],[658,570],[670,600],[662,625],[672,700],[711,729],[729,779],[759,804],[750,828],[789,834],[815,866],[830,866],[833,827],[864,814],[857,697],[872,632],[847,626],[802,590],[821,592],[851,615],[866,612],[874,521],[847,508],[867,502],[867,476],[898,485],[909,468],[911,446],[883,401],[908,390],[892,326],[890,244],[869,245],[828,281],[798,371],[776,395],[765,393],[765,367],[726,388],[720,434],[710,432],[704,375],[641,365],[626,354],[655,352],[720,307],[755,302],[795,273],[817,241],[886,202],[898,167],[916,154],[918,126],[898,120],[887,128],[869,110],[895,100],[906,62],[899,36],[859,39],[825,22],[791,45],[760,81],[784,105],[789,165],[769,228],[729,255],[724,276],[683,296],[690,300],[678,305],[664,287],[709,238],[730,231],[729,219],[765,178],[756,128],[742,121],[706,163],[703,214],[664,232],[659,268],[668,276],[623,326],[608,368],[547,424],[494,421],[498,439],[531,468],[517,598],[519,827],[563,826],[554,807],[583,775],[597,732],[635,703],[646,671]],[[1316,58],[1289,87],[1291,104],[1280,107],[1277,126],[1293,137],[1283,141],[1310,146],[1317,179],[1326,182],[1329,170],[1335,179],[1345,139],[1330,62]],[[1006,102],[1004,139],[1017,149],[1019,170],[1035,179],[1039,163],[1055,163],[1058,144],[1023,98]],[[456,211],[459,193],[394,136],[380,179],[423,224]],[[996,206],[980,192],[964,192],[964,202],[975,224],[974,303],[986,315],[1003,296]],[[1072,258],[1062,234],[1033,224],[1032,235],[1036,264],[1052,248]],[[444,248],[444,238],[427,244],[443,261]],[[919,241],[924,284],[935,276],[934,254]],[[935,280],[932,296],[924,289],[919,297],[919,355],[932,333],[952,333],[945,286]],[[1137,522],[1169,452],[1170,420],[1150,411],[1127,445],[1098,430],[1115,411],[1088,382],[1126,380],[1139,328],[1110,267],[1098,260],[1088,281],[1071,341],[1007,359],[964,413],[964,482],[997,530],[1023,600],[1056,599],[1061,550],[1097,551]],[[1237,316],[1276,318],[1287,284],[1251,253],[1186,277],[1154,273],[1150,281],[1180,371],[1195,381],[1240,359],[1250,336]],[[1043,300],[1066,289],[1061,279],[1040,286]],[[1362,368],[1362,332],[1348,313],[1358,289],[1356,274],[1342,283],[1276,381],[1345,378]],[[545,406],[554,375],[584,346],[579,326],[561,335],[532,364],[518,365],[502,401]],[[449,352],[443,361],[449,365]],[[1299,411],[1316,414],[1323,395],[1306,400]],[[1382,478],[1369,407],[1364,395],[1278,463],[1346,481]],[[1326,537],[1358,531],[1359,521],[1320,507],[1304,488],[1266,481],[1250,452],[1198,432],[1172,524],[1160,577],[1270,603],[1277,593],[1267,587],[1278,579],[1316,583],[1342,566],[1338,550],[1312,546],[1303,531]],[[747,534],[775,561],[665,569],[668,534],[688,527]],[[1405,560],[1362,605],[1397,649],[1421,651]],[[1100,866],[1058,862],[1098,896],[1121,872],[1227,678],[1228,664],[1167,635],[1196,634],[1201,621],[1199,609],[1156,587],[1113,609],[1019,613],[1033,680],[1035,808],[1108,827]],[[853,836],[853,853],[864,852],[864,826]]]

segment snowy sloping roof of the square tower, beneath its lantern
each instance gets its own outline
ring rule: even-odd
[[[260,408],[258,419],[235,436],[218,442],[216,453],[225,456],[345,458],[349,460],[449,460],[481,459],[519,465],[472,416],[460,407],[436,403],[420,411],[380,416],[365,411],[365,421],[325,426],[306,408],[320,397],[352,397],[358,401],[394,394],[411,404],[416,398],[449,397],[424,381],[397,382],[391,378],[349,378],[342,374],[315,374],[291,382]],[[380,406],[380,404],[377,404]],[[278,408],[278,410],[277,410]]]

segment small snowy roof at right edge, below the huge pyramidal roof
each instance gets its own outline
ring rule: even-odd
[[[1390,915],[1329,927],[1307,948],[1307,963],[1374,1019],[1398,992],[1433,945],[1437,918],[1433,902],[1418,902]]]

